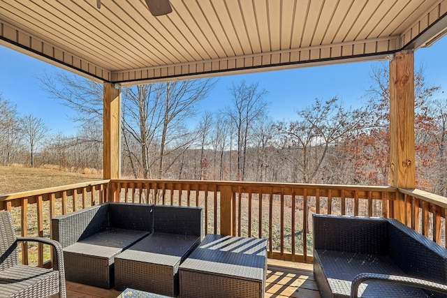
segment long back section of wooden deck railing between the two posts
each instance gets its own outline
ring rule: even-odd
[[[396,188],[235,181],[112,180],[113,200],[201,206],[205,232],[269,240],[268,256],[312,262],[312,214],[393,214]]]

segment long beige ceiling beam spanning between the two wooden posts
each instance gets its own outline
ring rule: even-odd
[[[400,50],[400,36],[372,38],[330,45],[245,54],[203,61],[191,61],[148,68],[112,72],[112,82],[129,85],[136,82],[161,82],[181,78],[233,75],[256,71],[341,64],[386,59]]]

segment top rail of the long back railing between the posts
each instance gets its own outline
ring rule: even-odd
[[[340,189],[348,191],[385,191],[396,192],[397,188],[392,186],[356,186],[342,184],[296,184],[296,183],[280,183],[280,182],[250,182],[250,181],[214,181],[214,180],[171,180],[171,179],[112,179],[111,182],[119,183],[161,183],[161,184],[210,184],[218,186],[272,186],[275,188],[308,188],[308,189]]]

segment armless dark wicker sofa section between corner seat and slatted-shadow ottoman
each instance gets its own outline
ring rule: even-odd
[[[115,258],[115,289],[177,296],[179,265],[202,238],[202,208],[155,205],[154,232]]]

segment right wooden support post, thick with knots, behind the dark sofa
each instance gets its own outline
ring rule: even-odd
[[[397,52],[390,61],[390,184],[415,188],[414,54]],[[393,202],[393,217],[406,223],[404,195]]]

